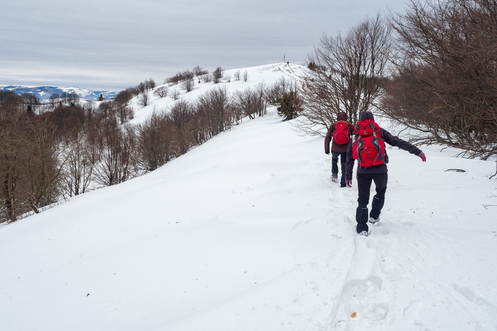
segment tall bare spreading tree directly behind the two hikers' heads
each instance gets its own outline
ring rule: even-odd
[[[326,34],[309,55],[302,88],[303,115],[299,128],[323,134],[339,112],[351,123],[359,113],[377,109],[384,94],[381,83],[391,50],[391,28],[380,15],[366,17],[335,37]]]

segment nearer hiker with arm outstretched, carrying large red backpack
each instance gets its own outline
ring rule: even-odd
[[[359,122],[355,125],[353,133],[355,140],[348,146],[345,180],[347,186],[352,187],[352,170],[357,160],[357,191],[359,194],[357,202],[359,205],[355,211],[356,230],[358,234],[367,236],[369,235],[368,220],[371,224],[380,220],[381,208],[385,202],[388,180],[388,155],[385,142],[419,156],[423,162],[426,162],[426,156],[419,148],[380,128],[374,122],[371,112],[363,112],[359,115]],[[368,219],[371,181],[374,181],[376,186],[376,195],[373,197]]]

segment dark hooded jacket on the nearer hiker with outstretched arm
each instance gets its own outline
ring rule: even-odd
[[[371,112],[363,112],[361,115],[359,115],[359,121],[362,120],[371,120],[374,122],[374,116],[373,113]],[[414,154],[416,156],[419,156],[421,154],[421,150],[417,148],[416,146],[410,144],[406,140],[403,140],[395,135],[392,135],[390,132],[386,131],[383,128],[380,128],[381,132],[381,137],[383,140],[385,140],[386,143],[392,146],[399,147],[400,149],[407,150],[411,154]],[[346,181],[351,181],[352,180],[352,172],[354,170],[354,162],[355,159],[352,154],[352,145],[353,143],[348,144],[348,149],[347,149],[347,162],[345,163],[345,180]],[[387,153],[385,149],[385,154]],[[386,164],[380,164],[377,166],[371,166],[371,167],[359,167],[357,166],[357,172],[361,174],[381,174],[384,172],[387,172],[387,165]]]

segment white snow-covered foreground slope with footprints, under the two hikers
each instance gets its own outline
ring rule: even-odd
[[[496,330],[495,165],[422,149],[360,237],[323,139],[244,121],[0,227],[0,330]]]

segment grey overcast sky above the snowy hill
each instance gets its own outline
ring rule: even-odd
[[[179,70],[302,64],[404,0],[0,0],[0,85],[123,89]]]

